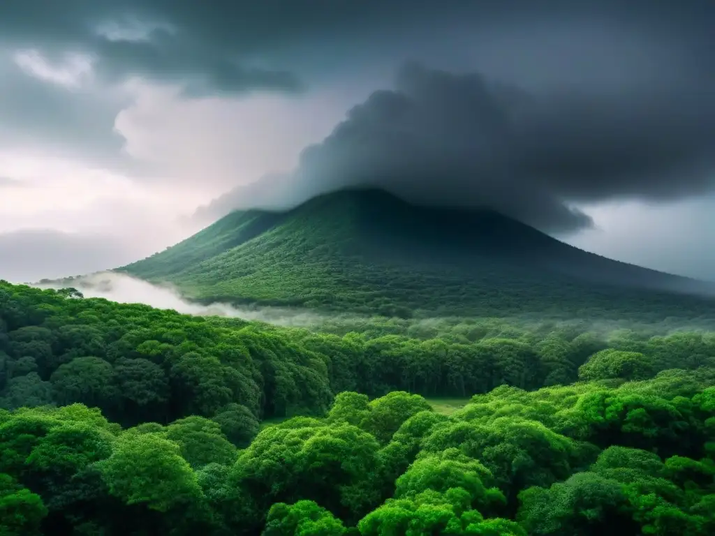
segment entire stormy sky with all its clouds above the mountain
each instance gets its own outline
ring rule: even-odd
[[[714,23],[700,0],[5,0],[0,278],[368,184],[715,279]]]

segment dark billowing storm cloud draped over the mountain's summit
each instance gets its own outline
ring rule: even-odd
[[[573,202],[676,199],[715,187],[715,84],[692,76],[616,94],[530,94],[408,64],[290,176],[236,189],[204,214],[282,207],[342,187],[488,206],[551,232],[588,227]],[[200,212],[199,212],[200,215]]]

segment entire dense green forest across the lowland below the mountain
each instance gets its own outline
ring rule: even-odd
[[[298,329],[0,282],[0,535],[712,535],[714,384],[693,324]]]

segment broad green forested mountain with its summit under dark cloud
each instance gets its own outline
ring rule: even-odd
[[[584,252],[489,209],[423,207],[376,189],[233,212],[117,271],[172,282],[201,302],[399,316],[715,311],[704,282]]]

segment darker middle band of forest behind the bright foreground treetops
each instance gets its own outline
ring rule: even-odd
[[[715,365],[713,332],[584,322],[352,318],[316,332],[3,283],[0,315],[1,405],[80,402],[122,425],[322,415],[341,391],[467,397]]]

